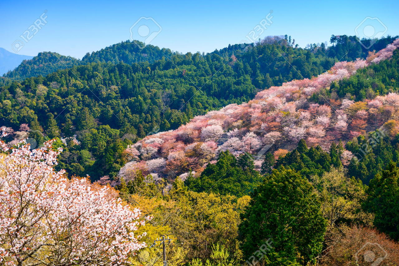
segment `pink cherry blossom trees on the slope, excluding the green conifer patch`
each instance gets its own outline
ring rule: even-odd
[[[393,47],[398,46],[396,40],[370,56],[387,59]],[[387,57],[386,52],[391,55]],[[396,93],[378,96],[363,105],[348,99],[325,99],[326,104],[321,105],[309,100],[332,82],[350,77],[369,65],[374,60],[371,57],[337,62],[329,71],[312,79],[270,87],[249,102],[229,104],[196,116],[176,130],[147,136],[133,146],[139,152],[138,159],[122,167],[119,175],[132,178],[137,169],[170,179],[185,176],[190,169],[199,175],[207,164],[215,162],[221,151],[229,150],[237,156],[244,152],[257,154],[265,148],[292,150],[300,139],[327,149],[333,141],[349,140],[366,130],[374,130],[399,108]],[[348,152],[345,156],[350,158]]]

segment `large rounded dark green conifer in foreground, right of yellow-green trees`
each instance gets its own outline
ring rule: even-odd
[[[270,238],[266,265],[309,265],[323,248],[326,221],[314,187],[298,172],[280,167],[255,189],[241,216],[239,238],[251,256]]]

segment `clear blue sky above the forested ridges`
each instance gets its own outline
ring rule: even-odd
[[[81,58],[86,52],[130,38],[140,17],[152,17],[162,31],[150,42],[186,53],[210,52],[239,43],[273,10],[273,24],[261,35],[292,35],[301,47],[354,35],[367,16],[399,34],[399,1],[8,1],[0,4],[0,47],[11,45],[47,10],[47,24],[18,52],[53,51]]]

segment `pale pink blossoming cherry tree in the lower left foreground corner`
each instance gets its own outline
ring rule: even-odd
[[[139,209],[109,186],[54,171],[61,148],[0,145],[1,265],[119,265],[146,246],[134,234]]]

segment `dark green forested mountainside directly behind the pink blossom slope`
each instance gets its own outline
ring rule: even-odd
[[[67,142],[59,166],[98,179],[116,176],[128,162],[124,150],[148,133],[249,101],[260,89],[319,75],[336,60],[287,43],[218,53],[176,53],[131,65],[90,63],[13,81],[1,88],[0,116],[14,130],[28,124],[38,144],[76,135],[80,144]]]

